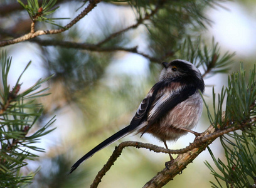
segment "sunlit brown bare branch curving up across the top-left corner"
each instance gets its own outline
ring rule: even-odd
[[[35,38],[36,36],[40,36],[43,34],[58,34],[63,31],[66,31],[67,29],[71,28],[75,23],[80,21],[80,19],[82,19],[84,16],[86,16],[90,11],[92,11],[92,9],[95,8],[95,6],[97,6],[97,4],[100,3],[100,1],[102,1],[102,0],[94,0],[94,1],[91,0],[90,3],[88,4],[87,8],[85,8],[82,11],[82,13],[80,13],[75,19],[73,19],[70,23],[68,23],[66,26],[64,26],[61,29],[38,30],[38,31],[35,31],[35,33],[30,32],[28,34],[25,34],[25,35],[19,37],[19,38],[10,39],[10,40],[6,40],[6,41],[0,41],[0,47],[8,46],[10,44],[20,43],[22,41],[26,41],[28,39],[32,39],[32,38]]]

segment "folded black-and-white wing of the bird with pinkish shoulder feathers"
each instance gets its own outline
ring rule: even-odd
[[[146,98],[142,100],[136,115],[131,121],[130,130],[136,129],[142,122],[147,121],[146,132],[161,116],[193,95],[193,86],[177,86],[175,81],[159,81],[152,87]],[[143,133],[144,133],[143,132]],[[143,135],[142,133],[142,135]]]

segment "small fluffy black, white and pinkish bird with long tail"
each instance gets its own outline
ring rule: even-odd
[[[203,111],[201,93],[205,91],[205,82],[200,70],[186,60],[163,62],[159,81],[152,86],[142,100],[131,123],[114,133],[99,145],[83,155],[72,166],[70,174],[93,154],[131,133],[150,133],[162,142],[178,140],[179,137],[194,132]],[[171,161],[173,157],[169,154]]]

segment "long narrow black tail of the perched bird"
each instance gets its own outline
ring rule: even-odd
[[[88,158],[92,157],[93,154],[95,154],[96,152],[98,152],[101,149],[104,149],[104,147],[106,147],[107,145],[112,144],[113,142],[115,142],[116,140],[119,140],[120,138],[126,136],[127,134],[129,134],[131,132],[131,130],[129,130],[130,126],[127,126],[125,128],[123,128],[122,130],[119,130],[119,132],[115,133],[114,135],[112,135],[111,137],[107,138],[106,140],[104,140],[102,143],[100,143],[99,145],[97,145],[95,148],[93,148],[92,150],[90,150],[90,152],[88,152],[87,154],[83,155],[83,157],[81,159],[79,159],[72,167],[70,170],[70,174],[77,169],[77,167],[83,162],[83,160],[87,160]]]

